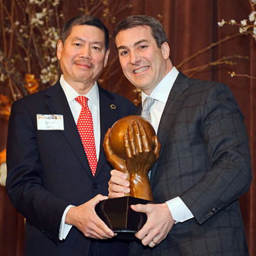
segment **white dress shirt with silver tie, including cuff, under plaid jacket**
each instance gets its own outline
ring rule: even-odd
[[[156,101],[150,108],[150,115],[152,120],[151,124],[154,127],[156,133],[169,93],[178,75],[179,71],[177,70],[177,68],[173,67],[172,70],[161,80],[159,84],[157,84],[153,92],[149,95],[153,99],[156,99]],[[148,95],[146,93],[141,92],[142,104],[147,96]],[[179,196],[168,200],[166,204],[170,209],[175,223],[184,222],[194,217],[192,212],[188,209],[186,204],[184,204]]]

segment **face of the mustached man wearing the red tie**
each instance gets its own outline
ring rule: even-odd
[[[89,25],[74,26],[65,40],[58,42],[57,57],[63,77],[78,93],[92,88],[108,62],[104,33]]]

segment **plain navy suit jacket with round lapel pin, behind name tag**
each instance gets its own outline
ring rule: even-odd
[[[99,98],[100,156],[94,178],[59,82],[13,103],[6,189],[14,207],[26,218],[25,255],[88,255],[91,239],[76,227],[64,241],[58,240],[61,216],[70,204],[81,205],[97,194],[108,195],[112,168],[102,148],[104,134],[116,120],[136,111],[129,100],[102,88]],[[65,130],[38,131],[36,114],[63,115]],[[113,240],[93,242],[99,255],[125,252],[120,245],[127,245]]]

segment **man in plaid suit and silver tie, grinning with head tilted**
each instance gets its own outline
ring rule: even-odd
[[[225,84],[178,72],[163,26],[152,17],[127,17],[114,38],[125,76],[142,90],[143,109],[153,99],[151,124],[161,143],[150,171],[156,204],[132,205],[148,220],[131,255],[248,255],[238,198],[250,188],[251,156],[234,95]],[[126,145],[131,163],[151,149],[135,126],[134,132],[136,140],[129,137]],[[111,171],[109,197],[129,193],[125,178]]]

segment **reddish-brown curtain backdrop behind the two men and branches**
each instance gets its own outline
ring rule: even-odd
[[[1,2],[1,1],[0,1]],[[8,5],[10,0],[3,0]],[[74,15],[80,14],[79,6],[82,1],[62,1],[60,8],[65,16],[65,23]],[[84,0],[84,3],[86,0]],[[89,2],[89,1],[88,1]],[[97,1],[95,1],[97,2]],[[127,0],[119,0],[121,4]],[[115,1],[109,1],[109,8]],[[10,5],[10,4],[9,4]],[[173,64],[182,72],[191,77],[221,81],[228,84],[236,96],[241,107],[245,124],[250,139],[252,150],[253,174],[256,173],[255,151],[256,151],[256,41],[252,36],[237,36],[221,44],[198,53],[213,42],[221,38],[234,35],[238,29],[236,26],[225,25],[219,27],[217,22],[221,19],[240,20],[248,19],[252,12],[249,0],[133,0],[132,8],[125,9],[116,15],[116,22],[124,19],[127,15],[146,14],[161,20],[171,47],[171,58]],[[102,19],[101,15],[97,15]],[[104,21],[104,19],[103,19]],[[61,24],[63,25],[63,24]],[[113,31],[115,24],[106,24]],[[0,24],[0,26],[4,26]],[[1,40],[0,40],[1,41]],[[0,42],[1,46],[1,42]],[[195,54],[195,58],[182,61]],[[231,60],[236,65],[209,65],[202,71],[191,68],[201,67],[213,61],[220,60],[224,56],[234,56]],[[239,57],[240,56],[240,57]],[[243,58],[241,56],[248,56]],[[138,98],[134,87],[127,82],[116,60],[116,52],[111,44],[111,55],[102,86],[108,90],[124,95],[130,100]],[[228,72],[248,76],[231,77]],[[7,86],[0,86],[0,93],[10,96]],[[6,147],[6,134],[8,123],[0,119],[0,151]],[[253,213],[256,211],[256,181],[253,179],[250,191],[240,198],[241,211],[243,214],[244,227],[251,256],[256,256],[256,221]],[[24,220],[10,204],[5,188],[0,186],[0,255],[18,256],[22,255],[24,248]]]

